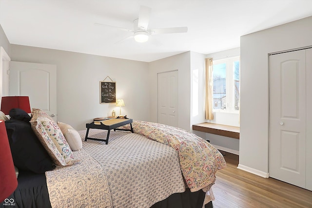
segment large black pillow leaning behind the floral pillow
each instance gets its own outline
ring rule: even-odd
[[[40,144],[29,122],[7,120],[5,127],[13,162],[18,169],[44,173],[55,168],[55,164]]]

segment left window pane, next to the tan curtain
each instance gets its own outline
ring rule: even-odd
[[[214,65],[214,109],[226,109],[226,63]]]

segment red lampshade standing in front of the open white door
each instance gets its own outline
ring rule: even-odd
[[[31,113],[28,96],[5,96],[1,100],[1,111],[8,115],[12,108],[19,108]]]

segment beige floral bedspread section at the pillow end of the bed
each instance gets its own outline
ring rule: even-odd
[[[112,208],[108,181],[100,164],[86,151],[74,151],[78,160],[71,166],[46,171],[52,208]]]

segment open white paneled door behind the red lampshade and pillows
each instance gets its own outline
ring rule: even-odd
[[[57,121],[56,65],[11,61],[9,94],[29,96],[31,108],[39,108]]]

